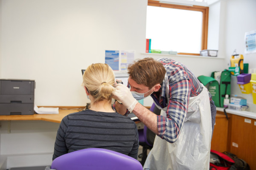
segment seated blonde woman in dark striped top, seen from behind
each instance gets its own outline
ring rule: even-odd
[[[113,150],[137,159],[137,126],[129,117],[113,111],[113,86],[116,84],[109,65],[90,65],[83,75],[83,86],[90,108],[65,116],[58,128],[52,160],[65,153],[86,148]]]

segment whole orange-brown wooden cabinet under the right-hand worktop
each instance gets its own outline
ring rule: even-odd
[[[256,170],[256,119],[217,111],[211,149],[228,151],[244,159],[251,170]]]

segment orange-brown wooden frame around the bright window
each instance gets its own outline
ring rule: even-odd
[[[189,11],[200,11],[202,12],[202,37],[201,37],[201,50],[207,49],[207,38],[208,38],[208,18],[209,18],[209,7],[207,6],[183,6],[183,5],[175,5],[169,3],[160,3],[160,1],[156,0],[148,0],[148,6],[156,6],[163,8],[174,8],[174,9],[183,9]],[[178,53],[182,55],[197,55],[196,53]]]

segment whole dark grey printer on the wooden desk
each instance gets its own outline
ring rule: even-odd
[[[0,79],[0,115],[34,114],[35,80]]]

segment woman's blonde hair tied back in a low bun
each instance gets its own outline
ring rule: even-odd
[[[96,63],[90,65],[83,75],[83,85],[87,88],[95,102],[107,100],[111,102],[111,95],[115,85],[115,75],[108,64]]]

